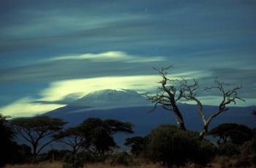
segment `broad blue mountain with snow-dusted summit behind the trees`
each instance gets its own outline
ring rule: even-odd
[[[203,127],[197,105],[179,104],[178,106],[184,114],[188,129],[200,130]],[[69,127],[75,126],[89,117],[129,121],[135,126],[135,134],[131,136],[147,135],[151,129],[159,124],[176,124],[173,113],[165,111],[161,107],[149,113],[148,111],[151,111],[153,107],[154,105],[150,101],[133,90],[105,89],[91,92],[69,105],[43,115],[64,119],[69,122]],[[206,116],[209,116],[217,110],[217,106],[205,105],[203,109]],[[252,116],[252,110],[255,109],[255,106],[230,107],[229,111],[220,114],[211,122],[210,128],[224,122],[236,122],[246,124],[249,127],[256,127],[256,117]],[[118,135],[118,144],[123,143],[126,137],[127,135]]]

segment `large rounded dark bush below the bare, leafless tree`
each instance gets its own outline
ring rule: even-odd
[[[149,159],[162,161],[167,167],[184,166],[189,162],[207,164],[214,156],[214,151],[214,145],[199,140],[197,133],[183,131],[172,125],[162,125],[148,135]]]

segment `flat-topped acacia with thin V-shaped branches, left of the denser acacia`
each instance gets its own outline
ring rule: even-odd
[[[48,116],[34,116],[28,118],[17,118],[11,121],[15,132],[31,144],[32,153],[36,157],[46,145],[52,143],[57,132],[64,124],[61,119],[50,118]]]

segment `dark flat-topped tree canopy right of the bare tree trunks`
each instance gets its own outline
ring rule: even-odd
[[[231,142],[236,145],[241,145],[246,140],[252,138],[254,132],[245,125],[225,123],[211,129],[209,135],[219,137],[219,144]]]

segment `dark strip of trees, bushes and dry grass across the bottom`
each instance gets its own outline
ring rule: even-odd
[[[31,119],[37,121],[39,127],[35,127],[37,124],[30,121]],[[37,116],[29,118],[28,123],[28,119],[23,119],[26,129],[30,128],[30,132],[25,133],[31,135],[29,137],[32,147],[33,140],[39,140],[37,136],[42,137],[47,124],[50,123],[53,127],[50,121],[56,121],[47,119],[49,118],[45,116]],[[197,132],[168,124],[160,125],[145,137],[127,138],[124,145],[131,149],[127,152],[118,150],[113,134],[132,133],[132,124],[113,119],[91,118],[77,127],[61,131],[58,128],[58,132],[51,132],[51,141],[64,143],[71,150],[52,149],[47,153],[34,153],[33,151],[37,150],[32,151],[28,145],[15,143],[13,121],[10,122],[1,116],[1,132],[5,133],[0,143],[1,149],[4,149],[0,152],[1,167],[4,167],[4,164],[9,164],[7,167],[48,168],[256,166],[256,131],[241,124],[220,124],[211,129],[208,135],[217,137],[217,144],[201,139]],[[28,127],[31,123],[34,127]],[[59,127],[60,122],[56,123]],[[15,127],[18,127],[16,122],[15,124]]]

